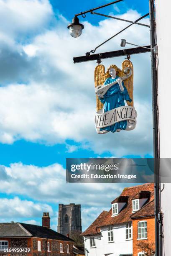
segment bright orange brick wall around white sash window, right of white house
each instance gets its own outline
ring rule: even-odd
[[[139,221],[147,221],[147,239],[137,240],[138,239],[138,222]],[[139,243],[145,243],[147,246],[150,245],[153,250],[155,250],[155,221],[154,218],[145,218],[133,220],[133,256],[138,256],[138,252],[143,251]],[[147,256],[150,254],[146,254]]]

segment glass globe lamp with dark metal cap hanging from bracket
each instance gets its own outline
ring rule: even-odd
[[[75,16],[72,19],[72,23],[68,25],[69,33],[72,37],[79,37],[82,34],[82,30],[84,29],[84,25],[79,23],[79,18]]]

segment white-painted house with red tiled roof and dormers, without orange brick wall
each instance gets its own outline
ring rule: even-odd
[[[109,212],[103,211],[96,220],[82,233],[84,237],[85,256],[132,256],[133,221],[135,214],[153,201],[153,184],[144,184],[125,188],[115,200]],[[153,212],[153,208],[152,208]],[[148,213],[147,213],[148,215]],[[134,216],[134,217],[133,217]],[[141,223],[144,222],[140,221]],[[146,222],[147,223],[147,222]],[[147,225],[136,229],[135,242],[147,241]],[[138,237],[137,237],[138,235]],[[145,256],[136,251],[136,256]]]

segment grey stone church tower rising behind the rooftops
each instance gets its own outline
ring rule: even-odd
[[[82,232],[81,205],[59,204],[58,233],[67,236],[73,230]]]

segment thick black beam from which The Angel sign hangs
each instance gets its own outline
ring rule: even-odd
[[[127,56],[128,54],[140,54],[150,51],[150,45],[145,46],[145,48],[142,47],[136,47],[136,48],[130,48],[130,49],[124,49],[124,50],[118,50],[118,51],[108,51],[103,52],[100,54],[87,54],[84,56],[74,57],[74,63],[80,63],[85,61],[93,61],[98,59],[108,59],[113,57],[119,57],[119,56]]]

